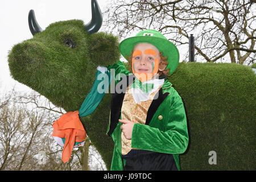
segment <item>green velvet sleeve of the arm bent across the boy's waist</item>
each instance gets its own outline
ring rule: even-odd
[[[165,131],[141,123],[134,124],[131,136],[132,148],[167,154],[185,152],[188,145],[187,119],[183,102],[177,92],[174,93],[169,109]]]

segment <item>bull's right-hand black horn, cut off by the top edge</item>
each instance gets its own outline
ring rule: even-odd
[[[85,25],[85,31],[89,34],[93,34],[100,30],[102,25],[102,13],[96,0],[92,0],[92,20]]]

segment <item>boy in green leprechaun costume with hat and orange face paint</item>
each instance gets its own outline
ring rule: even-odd
[[[179,170],[187,149],[187,119],[181,97],[165,78],[179,63],[176,46],[155,30],[119,44],[133,74],[121,61],[108,69],[126,76],[111,101],[107,134],[114,140],[112,170]],[[117,88],[117,87],[116,87]]]

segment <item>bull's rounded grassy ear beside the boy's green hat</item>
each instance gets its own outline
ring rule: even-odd
[[[116,63],[121,53],[119,52],[118,37],[104,32],[90,35],[90,57],[97,65],[107,67]]]

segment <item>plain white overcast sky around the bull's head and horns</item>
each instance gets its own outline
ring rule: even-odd
[[[97,0],[103,12],[106,0]],[[15,85],[16,90],[30,90],[10,76],[7,62],[8,51],[23,40],[31,39],[28,27],[28,12],[35,11],[36,20],[43,29],[60,20],[81,19],[89,22],[92,13],[90,0],[4,0],[0,2],[0,94],[6,93]],[[100,30],[101,31],[101,30]]]

